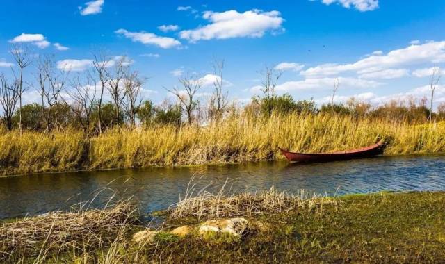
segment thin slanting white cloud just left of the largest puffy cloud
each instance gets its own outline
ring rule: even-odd
[[[133,42],[141,42],[143,44],[153,44],[163,49],[170,49],[181,46],[181,42],[175,40],[174,38],[160,37],[159,35],[155,35],[153,33],[146,33],[145,31],[129,32],[121,28],[115,31],[115,33],[124,35],[125,38],[129,38],[133,40]]]

